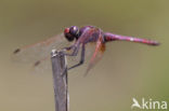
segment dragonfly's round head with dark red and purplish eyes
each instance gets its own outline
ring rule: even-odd
[[[79,38],[79,28],[77,26],[66,28],[64,34],[69,42],[74,41],[74,39],[77,40]]]

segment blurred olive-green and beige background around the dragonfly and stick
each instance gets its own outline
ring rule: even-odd
[[[69,72],[70,111],[131,111],[133,97],[169,102],[168,4],[168,0],[0,0],[0,110],[54,111],[52,73],[30,74],[10,57],[16,47],[72,25],[93,25],[161,45],[108,43],[87,78],[78,68]]]

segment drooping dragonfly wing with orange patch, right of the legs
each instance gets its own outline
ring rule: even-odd
[[[89,66],[87,68],[84,75],[87,75],[90,69],[93,68],[95,64],[102,58],[104,51],[105,51],[105,44],[103,43],[103,38],[100,34],[99,40],[96,41],[95,51],[92,55],[92,58],[90,59],[90,63],[89,63]]]

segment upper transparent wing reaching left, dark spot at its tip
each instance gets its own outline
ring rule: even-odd
[[[13,60],[16,61],[26,61],[26,63],[46,59],[48,56],[50,56],[52,48],[60,50],[66,44],[69,43],[66,42],[63,33],[56,34],[47,40],[15,50],[12,58]]]

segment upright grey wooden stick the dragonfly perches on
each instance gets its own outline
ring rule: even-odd
[[[53,70],[55,111],[68,111],[69,99],[66,57],[63,52],[52,50],[51,60]]]

